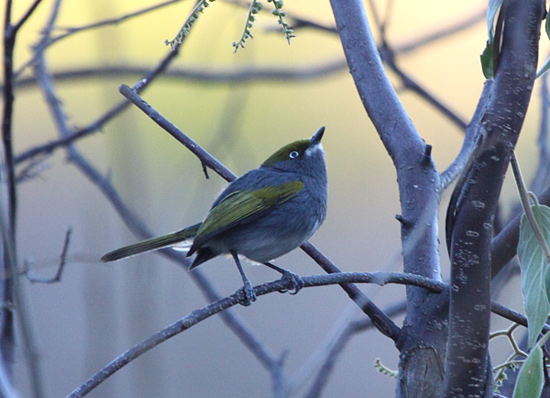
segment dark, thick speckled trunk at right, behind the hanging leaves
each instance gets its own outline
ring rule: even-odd
[[[457,186],[460,193],[452,209],[447,397],[492,394],[488,371],[492,225],[531,97],[543,11],[541,0],[504,2],[502,55],[482,118],[486,138],[478,144],[465,183]]]

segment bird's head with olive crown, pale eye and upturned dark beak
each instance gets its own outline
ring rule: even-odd
[[[262,167],[311,176],[326,175],[325,152],[321,145],[324,132],[325,128],[321,127],[309,140],[295,141],[282,147],[263,162]]]

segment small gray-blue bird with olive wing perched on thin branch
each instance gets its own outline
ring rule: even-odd
[[[231,182],[214,201],[202,223],[169,235],[125,246],[101,261],[191,241],[187,256],[196,253],[190,269],[221,254],[231,254],[244,283],[245,305],[256,300],[239,256],[280,272],[299,290],[302,279],[268,261],[304,243],[319,228],[327,209],[327,173],[321,127],[309,140],[279,149],[262,165]]]

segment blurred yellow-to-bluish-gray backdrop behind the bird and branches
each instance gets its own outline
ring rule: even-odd
[[[156,3],[65,1],[54,36],[66,28],[118,18]],[[310,137],[326,126],[328,216],[311,242],[344,271],[400,271],[400,227],[394,219],[400,212],[396,174],[343,63],[339,37],[300,28],[288,45],[269,13],[271,4],[264,3],[265,10],[252,31],[254,39],[236,54],[231,43],[242,33],[247,9],[223,1],[208,7],[172,67],[201,72],[212,79],[161,76],[142,94],[144,99],[237,175],[257,167],[279,147]],[[474,0],[390,3],[387,7],[385,1],[374,1],[380,16],[388,18],[387,39],[395,49],[460,21],[477,21],[397,56],[403,71],[468,122],[484,81],[479,62],[487,38],[482,5]],[[13,19],[30,4],[30,0],[14,2]],[[32,57],[32,46],[40,40],[53,4],[53,0],[44,0],[23,26],[16,45],[16,69]],[[153,68],[170,51],[164,40],[175,36],[193,5],[191,1],[175,2],[52,44],[46,51],[51,71],[103,71],[55,81],[69,126],[85,127],[121,101],[118,87],[134,85],[143,74],[113,74],[105,68]],[[289,16],[325,26],[334,24],[329,2],[289,0],[285,10]],[[367,12],[374,26],[368,4]],[[289,22],[292,24],[292,19]],[[543,60],[546,37],[542,43]],[[323,69],[330,71],[310,75]],[[246,71],[247,75],[265,70],[273,75],[273,71],[288,71],[292,76],[219,79],[226,73]],[[445,170],[460,150],[462,131],[416,94],[403,90],[393,73],[389,75],[419,133],[433,145],[439,171]],[[32,77],[29,68],[21,75],[21,79]],[[537,86],[517,151],[528,180],[536,166],[539,93]],[[57,137],[38,87],[32,80],[18,87],[16,155]],[[225,184],[214,172],[205,179],[200,162],[134,106],[100,132],[79,140],[76,148],[157,234],[200,221]],[[36,167],[40,172],[18,186],[21,266],[29,264],[34,276],[54,275],[65,233],[72,228],[68,263],[59,283],[31,283],[21,277],[44,396],[60,397],[128,348],[207,301],[184,269],[157,254],[101,264],[101,255],[137,238],[98,188],[68,161],[64,149],[41,158]],[[443,196],[442,215],[448,196],[449,192]],[[517,194],[508,178],[503,212],[515,203]],[[444,216],[441,230],[443,221]],[[444,242],[443,234],[441,238]],[[446,253],[442,243],[444,274],[448,272]],[[300,250],[276,263],[300,275],[322,272]],[[201,268],[221,295],[232,294],[242,285],[230,260],[216,259]],[[246,272],[253,284],[279,277],[265,267],[249,267]],[[402,301],[405,292],[394,286],[362,289],[382,308]],[[521,310],[519,279],[511,281],[509,291],[515,293],[507,294],[503,303]],[[363,316],[339,287],[304,289],[295,296],[270,294],[248,308],[233,311],[276,356],[286,355],[285,372],[302,386],[296,387],[296,396],[307,390],[311,374],[315,374],[308,369],[315,369],[324,347],[346,322]],[[399,318],[396,321],[400,323]],[[505,322],[495,321],[495,328],[503,326]],[[493,362],[507,353],[505,346],[495,349]],[[396,369],[397,354],[392,342],[376,331],[355,335],[338,358],[323,396],[392,396],[395,380],[380,374],[373,364],[380,358],[384,365]],[[16,385],[22,396],[30,392],[29,377],[19,344]],[[271,388],[268,371],[216,316],[146,353],[90,396],[267,397]]]

